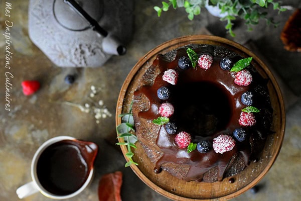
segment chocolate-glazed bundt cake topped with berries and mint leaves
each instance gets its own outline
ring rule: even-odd
[[[267,79],[226,47],[158,54],[134,92],[135,133],[154,171],[216,182],[256,161],[271,134]]]

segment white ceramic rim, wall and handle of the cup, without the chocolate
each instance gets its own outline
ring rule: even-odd
[[[25,198],[29,195],[32,195],[36,192],[41,192],[43,195],[49,197],[49,198],[52,198],[52,199],[67,199],[67,198],[70,198],[70,197],[74,197],[75,195],[78,195],[80,192],[82,192],[91,182],[92,180],[92,177],[93,177],[93,173],[94,173],[94,168],[92,166],[92,168],[90,169],[90,172],[87,176],[87,179],[86,181],[82,184],[82,186],[77,189],[76,191],[70,193],[70,194],[66,194],[66,195],[58,195],[58,194],[54,194],[52,192],[49,192],[47,189],[45,189],[41,182],[39,181],[38,179],[38,174],[37,174],[37,163],[38,163],[38,160],[41,156],[41,154],[43,153],[43,151],[49,147],[50,145],[54,144],[54,143],[57,143],[57,142],[60,142],[60,141],[63,141],[63,140],[76,140],[75,138],[73,137],[69,137],[69,136],[57,136],[57,137],[54,137],[54,138],[51,138],[49,140],[47,140],[46,142],[44,142],[39,148],[38,150],[36,151],[33,159],[32,159],[32,163],[31,163],[31,177],[32,177],[32,181],[29,182],[29,183],[26,183],[22,186],[20,186],[16,192],[19,196],[19,198]],[[92,147],[91,147],[92,146]],[[94,147],[95,146],[95,147]],[[97,150],[98,147],[96,144],[92,143],[91,145],[89,145],[89,147],[92,149],[92,150]]]

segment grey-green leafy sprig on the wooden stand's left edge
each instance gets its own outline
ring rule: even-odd
[[[125,156],[129,159],[129,161],[125,163],[125,167],[128,167],[132,164],[138,165],[138,163],[133,161],[132,157],[134,153],[131,151],[131,148],[137,148],[135,145],[137,142],[137,137],[131,133],[135,131],[132,116],[132,103],[130,105],[129,112],[120,114],[118,117],[122,118],[122,123],[116,127],[116,132],[118,134],[117,138],[123,138],[124,142],[118,142],[116,145],[124,145],[127,147],[127,153]]]

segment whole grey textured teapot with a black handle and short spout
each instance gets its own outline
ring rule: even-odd
[[[124,55],[133,1],[30,0],[29,37],[60,67],[98,67]]]

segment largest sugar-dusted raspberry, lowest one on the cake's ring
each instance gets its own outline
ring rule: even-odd
[[[235,140],[228,135],[219,135],[213,139],[213,150],[215,153],[231,151],[235,146]]]

